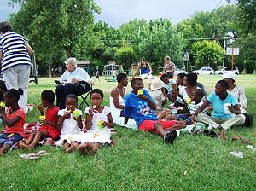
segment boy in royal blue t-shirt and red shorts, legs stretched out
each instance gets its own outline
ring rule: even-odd
[[[144,84],[141,78],[133,78],[131,87],[133,90],[125,96],[125,116],[132,115],[140,130],[152,131],[162,136],[166,143],[172,144],[177,137],[176,130],[184,128],[185,122],[159,120],[152,111],[156,109],[155,103],[148,91],[143,90]]]

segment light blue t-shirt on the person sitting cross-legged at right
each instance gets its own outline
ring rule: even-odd
[[[213,118],[221,118],[221,119],[230,119],[232,118],[232,113],[226,114],[224,111],[224,103],[230,103],[233,106],[235,106],[238,101],[236,99],[236,96],[228,93],[228,96],[224,100],[220,100],[219,96],[215,94],[215,92],[212,92],[209,96],[207,96],[207,101],[209,101],[212,104],[213,107]]]

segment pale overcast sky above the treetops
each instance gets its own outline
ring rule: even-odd
[[[11,8],[9,0],[0,0],[0,20],[7,20],[9,14],[19,10]],[[225,0],[95,0],[102,14],[95,14],[96,20],[119,27],[134,19],[172,19],[174,24],[189,18],[196,11],[211,11],[227,4]]]

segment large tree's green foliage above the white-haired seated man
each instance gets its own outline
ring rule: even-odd
[[[19,12],[10,18],[12,26],[30,39],[38,60],[49,67],[63,56],[63,51],[67,57],[75,55],[80,38],[93,23],[93,13],[100,11],[93,0],[11,2],[20,3]]]

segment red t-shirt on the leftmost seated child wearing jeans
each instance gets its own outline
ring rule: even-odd
[[[26,122],[26,115],[22,108],[18,109],[15,113],[10,114],[9,111],[12,107],[7,108],[6,117],[7,119],[13,119],[15,116],[20,117],[20,120],[14,124],[12,127],[5,126],[3,133],[19,133],[20,136],[25,136],[24,134],[24,124]]]

